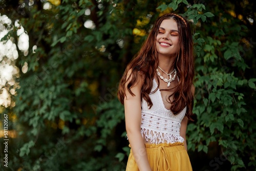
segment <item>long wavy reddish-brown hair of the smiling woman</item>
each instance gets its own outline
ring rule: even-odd
[[[151,32],[147,39],[143,43],[140,51],[134,56],[132,61],[127,65],[126,70],[120,80],[118,89],[118,99],[123,104],[125,98],[125,90],[134,95],[131,88],[135,86],[138,75],[142,78],[141,88],[141,100],[142,98],[147,102],[147,105],[152,107],[153,103],[150,98],[150,93],[155,93],[159,88],[152,92],[153,79],[158,67],[158,52],[156,50],[156,37],[159,31],[159,27],[164,19],[173,18],[179,31],[179,46],[180,50],[177,53],[177,57],[174,63],[174,67],[177,70],[179,82],[176,87],[173,88],[174,93],[169,96],[173,96],[174,100],[169,102],[172,104],[170,111],[174,115],[178,115],[187,106],[186,116],[191,119],[192,110],[194,106],[194,97],[191,92],[194,80],[194,53],[193,53],[193,39],[189,24],[185,18],[180,15],[168,13],[156,20]],[[128,74],[129,73],[129,74]],[[127,83],[127,84],[126,84]],[[125,86],[127,85],[127,87]],[[169,89],[170,90],[170,89]]]

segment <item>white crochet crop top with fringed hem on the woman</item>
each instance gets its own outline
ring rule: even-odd
[[[156,88],[157,82],[154,79],[152,92]],[[151,109],[149,109],[144,99],[141,102],[142,137],[146,141],[155,144],[183,142],[184,139],[180,136],[180,126],[186,113],[186,106],[178,115],[174,115],[165,108],[159,89],[149,96],[153,103]]]

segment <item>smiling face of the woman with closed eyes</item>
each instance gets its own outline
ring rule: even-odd
[[[179,51],[179,31],[172,18],[162,21],[156,37],[158,56],[172,57]]]

